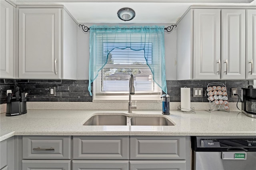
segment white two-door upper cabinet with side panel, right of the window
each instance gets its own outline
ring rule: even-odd
[[[245,12],[188,11],[177,24],[177,79],[245,79]]]

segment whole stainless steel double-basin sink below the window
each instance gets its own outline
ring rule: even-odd
[[[125,113],[96,113],[83,125],[89,126],[174,126],[176,123],[164,115],[129,115]]]

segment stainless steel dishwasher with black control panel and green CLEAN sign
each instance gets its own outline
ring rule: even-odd
[[[256,170],[256,136],[193,136],[193,170]]]

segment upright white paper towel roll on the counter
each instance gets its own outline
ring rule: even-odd
[[[190,88],[180,88],[180,108],[184,112],[190,111]]]

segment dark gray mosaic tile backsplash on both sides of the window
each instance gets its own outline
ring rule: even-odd
[[[216,80],[171,80],[167,81],[168,95],[171,102],[180,102],[180,87],[190,87],[191,102],[208,102],[206,87],[208,83],[226,83],[228,89],[228,101],[237,102],[238,98],[231,98],[230,88],[238,88],[238,95],[241,95],[241,88],[253,85],[253,81],[216,81]],[[1,101],[6,103],[6,90],[14,89],[18,85],[23,91],[31,91],[27,101],[66,101],[66,102],[91,102],[92,97],[88,92],[88,80],[19,80],[0,79]],[[50,95],[49,87],[56,87],[56,96]],[[193,97],[193,88],[203,88],[203,97]]]

